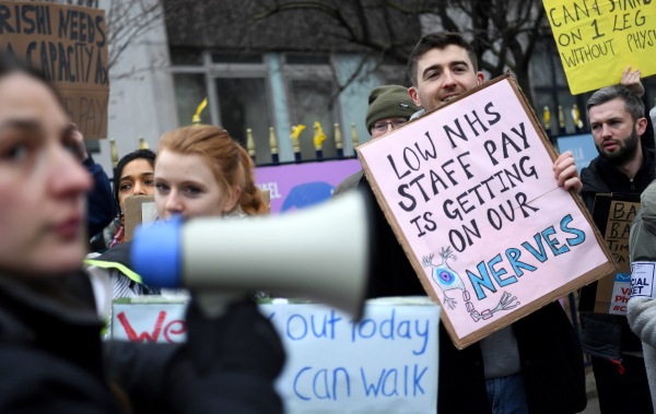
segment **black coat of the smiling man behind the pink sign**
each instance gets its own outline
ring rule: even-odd
[[[359,188],[374,196],[364,177]],[[397,241],[383,211],[375,206],[376,258],[370,297],[425,295],[417,273]],[[513,323],[522,375],[531,414],[569,414],[585,409],[585,374],[581,343],[559,303]],[[440,414],[491,412],[483,357],[478,343],[458,351],[440,323]]]

